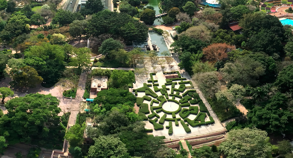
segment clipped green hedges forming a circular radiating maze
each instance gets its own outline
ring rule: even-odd
[[[193,88],[191,81],[186,81],[186,78],[182,78],[180,73],[176,72],[180,78],[166,79],[164,85],[159,85],[158,80],[153,79],[156,74],[150,73],[148,83],[151,84],[144,83],[143,87],[133,90],[135,96],[137,96],[138,92],[145,93],[143,97],[136,97],[136,103],[139,106],[138,114],[143,120],[148,120],[153,124],[155,130],[164,130],[165,125],[169,135],[173,134],[172,122],[175,122],[176,126],[179,126],[180,122],[186,133],[191,132],[189,126],[197,127],[214,123],[214,119],[210,116],[199,94],[196,90],[191,89]],[[190,86],[186,86],[186,84],[190,84]],[[175,88],[175,85],[179,85],[177,86],[178,88]],[[151,87],[153,87],[154,91]],[[167,111],[163,109],[164,103],[170,103],[170,108],[171,105],[176,105],[176,108],[172,108],[173,111]],[[159,113],[161,114],[161,112],[164,115],[160,117]],[[189,119],[191,115],[194,115],[193,118],[195,117],[195,119]],[[209,117],[210,121],[206,121],[207,117]],[[152,130],[147,129],[146,131]]]

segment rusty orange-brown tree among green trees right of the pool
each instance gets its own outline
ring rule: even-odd
[[[208,61],[218,62],[227,58],[227,52],[231,52],[233,49],[235,49],[233,46],[225,43],[214,43],[202,49],[202,53]]]

